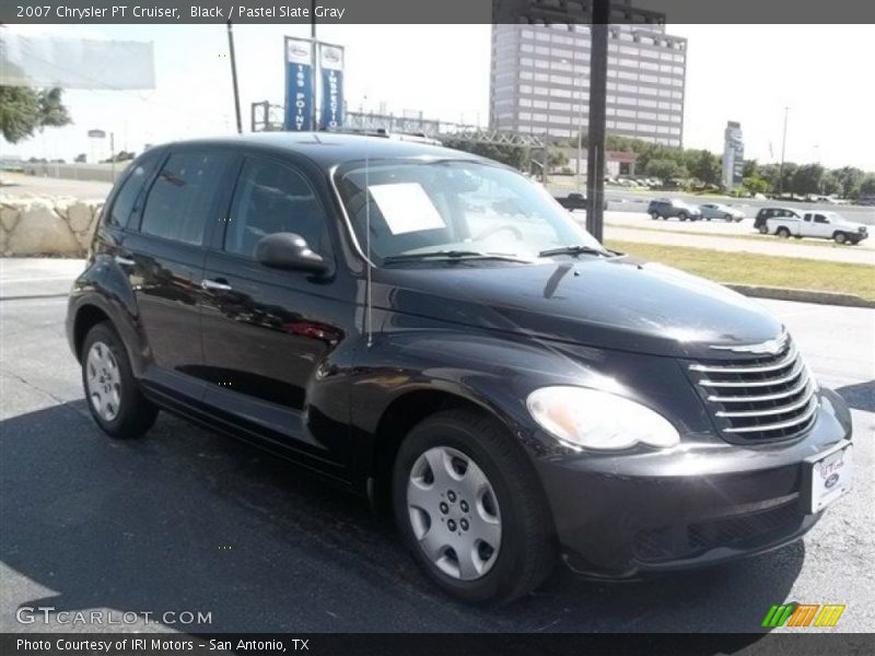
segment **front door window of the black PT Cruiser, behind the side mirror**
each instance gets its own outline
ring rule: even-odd
[[[276,162],[248,160],[241,171],[225,233],[225,250],[255,256],[261,237],[294,233],[325,254],[327,221],[322,204],[301,174]]]

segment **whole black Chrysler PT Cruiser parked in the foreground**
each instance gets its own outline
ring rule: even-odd
[[[392,507],[470,601],[560,557],[632,577],[774,549],[850,487],[849,411],[759,305],[423,143],[149,150],[103,210],[68,333],[109,435],[161,408],[289,456]]]

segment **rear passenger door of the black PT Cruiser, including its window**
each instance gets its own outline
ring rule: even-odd
[[[203,351],[200,282],[205,244],[228,195],[235,155],[224,149],[170,151],[120,254],[148,344],[148,382],[199,398]]]

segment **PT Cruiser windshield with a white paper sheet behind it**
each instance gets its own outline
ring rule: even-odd
[[[544,187],[503,166],[380,160],[345,165],[336,180],[376,265],[609,255]]]

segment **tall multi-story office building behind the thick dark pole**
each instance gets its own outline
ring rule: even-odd
[[[490,125],[551,137],[586,130],[590,25],[492,26]],[[687,39],[663,24],[608,28],[607,131],[681,145]]]

